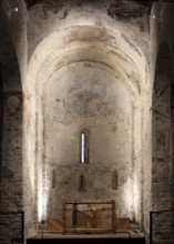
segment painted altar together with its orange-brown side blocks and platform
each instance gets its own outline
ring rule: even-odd
[[[47,221],[47,228],[28,238],[27,244],[110,244],[145,243],[143,233],[130,228],[129,218],[116,217],[114,200],[69,200],[62,204],[62,222]]]

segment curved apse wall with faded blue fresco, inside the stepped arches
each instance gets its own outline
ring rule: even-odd
[[[122,81],[103,64],[81,61],[59,69],[42,89],[47,216],[59,216],[62,201],[70,199],[114,199],[117,215],[130,216],[132,105]],[[89,164],[79,163],[83,129]],[[114,171],[117,189],[112,187]],[[82,174],[85,190],[79,191]]]

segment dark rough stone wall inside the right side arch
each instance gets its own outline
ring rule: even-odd
[[[173,160],[171,124],[171,58],[168,49],[161,45],[156,61],[153,94],[153,155],[152,155],[152,210],[173,207]],[[173,237],[173,215],[163,213],[154,216],[154,238]]]

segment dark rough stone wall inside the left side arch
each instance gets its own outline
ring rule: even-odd
[[[0,6],[0,12],[1,12]],[[3,14],[1,12],[1,23]],[[4,22],[3,22],[4,23]],[[22,209],[22,102],[19,65],[6,24],[0,27],[1,162],[0,210]],[[2,214],[0,243],[20,234],[20,214]]]

